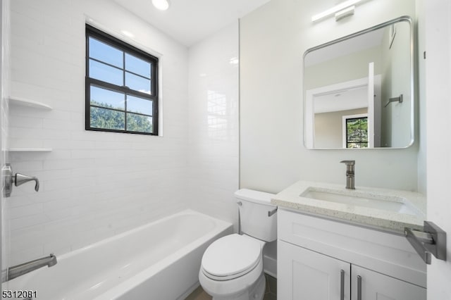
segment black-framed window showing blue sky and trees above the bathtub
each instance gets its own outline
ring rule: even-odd
[[[158,58],[86,25],[86,130],[158,135]]]

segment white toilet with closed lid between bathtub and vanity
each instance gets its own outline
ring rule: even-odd
[[[263,299],[265,277],[262,251],[277,239],[274,194],[252,189],[235,192],[242,235],[226,235],[205,250],[199,282],[214,300]]]

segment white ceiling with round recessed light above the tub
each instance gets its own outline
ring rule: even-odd
[[[169,0],[159,11],[151,0],[113,0],[185,46],[192,46],[270,0]]]

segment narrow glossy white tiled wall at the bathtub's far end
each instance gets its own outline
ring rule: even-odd
[[[191,206],[237,223],[238,23],[190,48]]]

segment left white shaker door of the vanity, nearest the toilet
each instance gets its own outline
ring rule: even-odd
[[[277,262],[278,299],[350,300],[350,263],[280,240]]]

